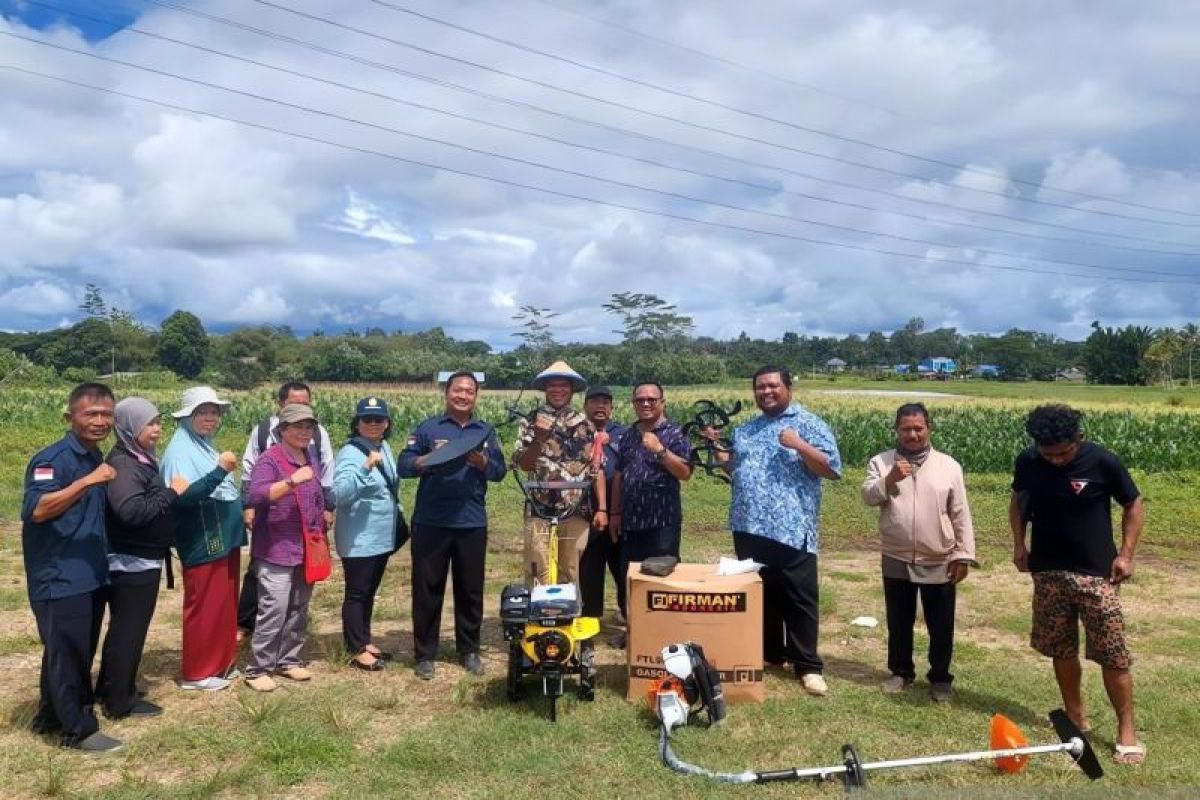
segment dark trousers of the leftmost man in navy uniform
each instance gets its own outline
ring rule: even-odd
[[[91,690],[91,660],[104,619],[104,589],[30,602],[42,639],[41,697],[34,730],[59,733],[77,745],[100,730]]]

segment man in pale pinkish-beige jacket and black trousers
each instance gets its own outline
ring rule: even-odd
[[[974,558],[974,529],[962,468],[929,443],[929,410],[907,403],[896,410],[894,450],[868,465],[863,501],[880,510],[883,601],[888,613],[888,670],[882,688],[905,691],[916,680],[912,628],[917,596],[929,630],[930,696],[954,696],[954,603],[958,584]]]

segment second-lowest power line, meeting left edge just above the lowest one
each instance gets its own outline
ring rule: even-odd
[[[991,248],[986,248],[986,247],[964,246],[964,245],[948,245],[946,242],[932,241],[932,240],[929,240],[929,239],[918,239],[916,236],[904,236],[904,235],[900,235],[900,234],[878,233],[878,231],[869,230],[869,229],[865,229],[865,228],[857,228],[857,227],[853,227],[853,225],[842,225],[842,224],[836,224],[836,223],[830,223],[830,222],[821,222],[821,221],[817,221],[817,219],[809,219],[806,217],[798,217],[798,216],[788,215],[788,213],[778,213],[778,212],[773,212],[773,211],[762,211],[762,210],[758,210],[758,209],[748,209],[745,206],[737,205],[737,204],[733,204],[733,203],[724,203],[721,200],[712,200],[712,199],[707,199],[707,198],[695,197],[695,196],[691,196],[691,194],[684,194],[682,192],[668,192],[668,191],[664,191],[664,190],[656,190],[656,188],[653,188],[653,187],[642,186],[640,184],[631,184],[631,182],[628,182],[628,181],[620,181],[620,180],[612,179],[612,178],[604,178],[604,176],[600,176],[600,175],[593,175],[590,173],[578,172],[578,170],[574,170],[574,169],[566,169],[566,168],[563,168],[563,167],[554,167],[554,166],[551,166],[551,164],[545,164],[545,163],[541,163],[541,162],[538,162],[538,161],[532,161],[532,160],[528,160],[528,158],[520,158],[520,157],[516,157],[516,156],[508,156],[508,155],[504,155],[504,154],[500,154],[500,152],[494,152],[494,151],[491,151],[491,150],[484,150],[481,148],[474,148],[474,146],[470,146],[470,145],[463,145],[463,144],[458,144],[458,143],[450,142],[450,140],[446,140],[446,139],[439,139],[439,138],[436,138],[436,137],[421,136],[421,134],[418,134],[418,133],[412,133],[409,131],[402,131],[400,128],[394,128],[394,127],[389,127],[389,126],[385,126],[385,125],[379,125],[377,122],[368,122],[366,120],[360,120],[360,119],[356,119],[356,118],[353,118],[353,116],[346,116],[346,115],[342,115],[342,114],[337,114],[335,112],[329,112],[329,110],[324,110],[324,109],[319,109],[319,108],[313,108],[311,106],[304,106],[304,104],[300,104],[300,103],[292,103],[292,102],[288,102],[288,101],[284,101],[284,100],[278,100],[278,98],[275,98],[275,97],[269,97],[266,95],[260,95],[260,94],[252,92],[252,91],[245,91],[245,90],[241,90],[241,89],[233,89],[230,86],[226,86],[226,85],[217,84],[217,83],[211,83],[211,82],[208,82],[208,80],[202,80],[199,78],[188,78],[186,76],[181,76],[179,73],[170,72],[168,70],[160,70],[160,68],[156,68],[156,67],[149,67],[149,66],[145,66],[145,65],[134,64],[132,61],[125,61],[125,60],[116,59],[116,58],[113,58],[113,56],[100,55],[97,53],[90,53],[90,52],[86,52],[86,50],[79,50],[79,49],[76,49],[76,48],[67,47],[65,44],[56,44],[54,42],[46,42],[46,41],[42,41],[42,40],[38,40],[38,38],[34,38],[34,37],[29,37],[29,36],[23,36],[20,34],[14,34],[14,32],[11,32],[11,31],[0,31],[0,36],[7,36],[10,38],[16,38],[16,40],[30,42],[32,44],[38,44],[41,47],[48,47],[48,48],[52,48],[52,49],[62,50],[62,52],[72,53],[72,54],[76,54],[76,55],[82,55],[84,58],[95,59],[95,60],[104,61],[104,62],[108,62],[108,64],[116,64],[116,65],[120,65],[120,66],[124,66],[124,67],[130,67],[130,68],[133,68],[133,70],[139,70],[139,71],[143,71],[143,72],[148,72],[148,73],[151,73],[151,74],[161,76],[161,77],[164,77],[164,78],[170,78],[170,79],[174,79],[174,80],[182,80],[182,82],[186,82],[186,83],[191,83],[191,84],[196,84],[196,85],[199,85],[199,86],[204,86],[206,89],[216,89],[218,91],[226,91],[226,92],[229,92],[229,94],[233,94],[233,95],[238,95],[240,97],[247,97],[247,98],[256,100],[256,101],[259,101],[259,102],[265,102],[265,103],[272,103],[272,104],[276,104],[276,106],[282,106],[284,108],[290,108],[293,110],[299,110],[299,112],[304,112],[304,113],[307,113],[307,114],[314,114],[314,115],[319,115],[319,116],[325,116],[325,118],[338,120],[338,121],[342,121],[342,122],[349,122],[352,125],[359,125],[359,126],[372,128],[372,130],[376,130],[376,131],[383,131],[385,133],[394,133],[396,136],[403,136],[403,137],[407,137],[407,138],[416,139],[419,142],[426,142],[426,143],[430,143],[430,144],[438,144],[438,145],[443,145],[443,146],[449,146],[449,148],[454,148],[456,150],[462,150],[462,151],[475,154],[475,155],[480,155],[480,156],[487,156],[490,158],[498,158],[498,160],[502,160],[502,161],[508,161],[508,162],[511,162],[511,163],[521,164],[523,167],[534,167],[534,168],[538,168],[538,169],[545,169],[545,170],[553,172],[553,173],[559,173],[559,174],[563,174],[563,175],[570,175],[572,178],[582,178],[584,180],[593,180],[593,181],[598,181],[598,182],[601,182],[601,184],[608,184],[611,186],[617,186],[617,187],[620,187],[620,188],[634,190],[634,191],[638,191],[638,192],[648,192],[648,193],[652,193],[652,194],[658,194],[658,196],[661,196],[661,197],[665,197],[665,198],[670,198],[672,200],[684,200],[684,201],[688,201],[688,203],[696,203],[698,205],[714,206],[714,207],[725,209],[725,210],[728,210],[728,211],[740,211],[743,213],[749,213],[749,215],[754,215],[754,216],[761,216],[761,217],[766,217],[766,218],[770,218],[770,219],[781,219],[781,221],[785,221],[785,222],[799,222],[799,223],[803,223],[803,224],[814,225],[814,227],[818,227],[818,228],[826,228],[826,229],[830,229],[830,230],[838,230],[838,231],[841,231],[841,233],[876,236],[876,237],[881,237],[881,239],[890,239],[890,240],[894,240],[894,241],[902,241],[902,242],[907,242],[907,243],[912,243],[912,245],[924,245],[924,246],[929,246],[929,247],[970,247],[970,249],[973,249],[973,251],[976,251],[978,253],[982,253],[984,255],[995,255],[995,257],[1001,257],[1001,258],[1012,258],[1012,259],[1015,259],[1015,260],[1042,261],[1044,264],[1062,264],[1064,266],[1080,266],[1080,267],[1085,267],[1085,269],[1111,271],[1111,272],[1122,272],[1122,273],[1129,272],[1129,273],[1140,273],[1140,275],[1164,275],[1164,276],[1172,276],[1172,277],[1187,277],[1187,273],[1171,272],[1171,271],[1165,271],[1165,270],[1147,270],[1147,269],[1141,269],[1141,267],[1108,266],[1108,265],[1104,265],[1104,264],[1093,264],[1093,263],[1088,263],[1088,261],[1076,261],[1076,260],[1072,260],[1072,259],[1058,259],[1058,258],[1046,258],[1046,257],[1020,255],[1020,254],[1016,254],[1016,253],[1009,253],[1009,252],[1006,252],[1006,251],[991,249]]]

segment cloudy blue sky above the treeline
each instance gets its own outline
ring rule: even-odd
[[[49,1],[125,26],[0,0],[6,330],[1200,317],[1200,4]]]

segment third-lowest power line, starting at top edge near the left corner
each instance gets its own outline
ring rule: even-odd
[[[737,179],[737,178],[727,178],[727,176],[724,176],[724,175],[716,175],[716,174],[713,174],[713,173],[706,173],[706,172],[702,172],[702,170],[690,169],[690,168],[686,168],[686,167],[678,167],[678,166],[674,166],[674,164],[670,164],[670,163],[655,161],[653,158],[646,158],[646,157],[641,157],[641,156],[634,156],[634,155],[619,152],[619,151],[616,151],[616,150],[608,150],[608,149],[599,148],[599,146],[594,146],[594,145],[588,145],[588,144],[581,144],[581,143],[576,143],[576,142],[570,142],[568,139],[562,139],[562,138],[558,138],[558,137],[553,137],[553,136],[548,136],[548,134],[544,134],[544,133],[538,133],[535,131],[528,131],[528,130],[518,128],[518,127],[515,127],[515,126],[509,126],[509,125],[503,125],[503,124],[499,124],[499,122],[493,122],[493,121],[490,121],[490,120],[479,119],[479,118],[475,118],[475,116],[470,116],[468,114],[461,114],[461,113],[457,113],[457,112],[451,112],[451,110],[446,110],[446,109],[443,109],[443,108],[438,108],[436,106],[428,106],[426,103],[418,103],[418,102],[414,102],[414,101],[408,101],[408,100],[404,100],[404,98],[401,98],[401,97],[396,97],[394,95],[388,95],[388,94],[384,94],[384,92],[378,92],[378,91],[373,91],[373,90],[368,90],[368,89],[362,89],[362,88],[359,88],[359,86],[353,86],[350,84],[341,83],[338,80],[332,80],[332,79],[329,79],[329,78],[323,78],[320,76],[314,76],[314,74],[311,74],[311,73],[307,73],[307,72],[302,72],[300,70],[293,70],[290,67],[282,67],[282,66],[278,66],[278,65],[274,65],[274,64],[269,64],[269,62],[265,62],[265,61],[260,61],[258,59],[251,59],[251,58],[238,55],[238,54],[234,54],[234,53],[228,53],[226,50],[220,50],[220,49],[206,47],[206,46],[203,46],[203,44],[196,44],[193,42],[187,42],[187,41],[184,41],[184,40],[180,40],[180,38],[175,38],[175,37],[172,37],[172,36],[164,36],[162,34],[155,34],[152,31],[142,30],[142,29],[137,28],[136,25],[122,25],[122,24],[119,24],[119,23],[114,23],[112,20],[102,19],[100,17],[94,17],[91,14],[85,14],[83,12],[70,11],[67,8],[62,8],[62,7],[55,6],[54,4],[41,2],[40,0],[26,0],[26,2],[29,2],[29,5],[32,5],[32,6],[38,6],[38,7],[42,7],[42,8],[48,8],[48,10],[52,10],[52,11],[58,11],[60,13],[64,13],[64,14],[67,14],[67,16],[71,16],[71,17],[74,17],[74,18],[86,19],[89,22],[110,25],[114,29],[120,29],[122,32],[131,32],[131,34],[136,34],[136,35],[139,35],[139,36],[143,36],[143,37],[146,37],[146,38],[152,38],[152,40],[156,40],[156,41],[168,42],[170,44],[178,44],[180,47],[187,47],[187,48],[191,48],[191,49],[194,49],[194,50],[199,50],[202,53],[209,53],[209,54],[212,54],[212,55],[217,55],[217,56],[221,56],[221,58],[230,59],[230,60],[239,61],[239,62],[242,62],[242,64],[251,64],[251,65],[254,65],[254,66],[258,66],[258,67],[263,67],[265,70],[272,70],[275,72],[281,72],[283,74],[304,78],[306,80],[312,80],[312,82],[320,83],[320,84],[324,84],[324,85],[336,86],[338,89],[344,89],[347,91],[353,91],[353,92],[361,94],[361,95],[365,95],[365,96],[368,96],[368,97],[376,97],[376,98],[379,98],[379,100],[386,100],[389,102],[398,103],[398,104],[407,106],[407,107],[410,107],[410,108],[418,108],[418,109],[421,109],[421,110],[432,112],[432,113],[436,113],[436,114],[442,114],[442,115],[445,115],[445,116],[449,116],[449,118],[452,118],[452,119],[466,120],[466,121],[469,121],[469,122],[474,122],[476,125],[484,125],[484,126],[488,126],[488,127],[497,128],[497,130],[500,130],[500,131],[506,131],[506,132],[510,132],[510,133],[517,133],[517,134],[521,134],[521,136],[534,137],[534,138],[538,138],[538,139],[542,139],[542,140],[546,140],[546,142],[552,142],[554,144],[560,144],[560,145],[569,146],[569,148],[586,150],[586,151],[589,151],[589,152],[598,152],[598,154],[602,154],[602,155],[607,155],[607,156],[613,156],[613,157],[617,157],[617,158],[625,158],[625,160],[634,161],[634,162],[637,162],[637,163],[649,164],[649,166],[658,167],[658,168],[661,168],[661,169],[670,169],[670,170],[674,170],[674,172],[679,172],[679,173],[685,173],[685,174],[689,174],[689,175],[695,175],[695,176],[704,178],[704,179],[709,179],[709,180],[716,180],[716,181],[722,181],[722,182],[733,184],[733,185],[738,185],[738,186],[745,186],[745,187],[749,187],[749,188],[755,188],[755,190],[769,192],[772,194],[790,194],[790,196],[793,196],[793,197],[797,197],[797,198],[802,198],[802,199],[806,199],[806,200],[814,200],[814,201],[817,201],[817,203],[827,203],[827,204],[839,205],[839,206],[844,206],[844,207],[852,207],[852,209],[859,209],[859,210],[864,210],[864,211],[872,211],[872,212],[877,212],[877,213],[886,213],[886,215],[892,215],[892,216],[899,216],[899,217],[905,217],[905,218],[908,218],[908,219],[916,219],[916,221],[919,221],[919,222],[926,222],[926,223],[938,224],[938,225],[944,225],[944,227],[950,227],[950,228],[971,228],[971,229],[976,229],[976,230],[984,230],[984,231],[989,231],[989,233],[1003,234],[1003,235],[1009,235],[1009,236],[1022,236],[1022,237],[1039,239],[1039,240],[1045,240],[1045,241],[1066,242],[1066,243],[1072,243],[1072,245],[1084,245],[1084,246],[1090,246],[1090,247],[1108,247],[1108,248],[1114,248],[1114,249],[1123,249],[1123,251],[1132,251],[1132,252],[1140,252],[1140,253],[1152,253],[1152,254],[1156,254],[1156,255],[1198,255],[1198,254],[1200,254],[1200,253],[1196,253],[1195,251],[1192,251],[1192,252],[1188,252],[1188,251],[1165,251],[1165,249],[1153,249],[1153,248],[1148,248],[1148,247],[1132,247],[1132,246],[1127,246],[1127,245],[1116,245],[1116,243],[1109,243],[1109,242],[1094,242],[1094,241],[1087,241],[1087,240],[1081,240],[1081,239],[1070,239],[1070,237],[1066,237],[1066,236],[1050,236],[1050,235],[1045,235],[1045,234],[1036,234],[1036,233],[1028,233],[1028,231],[1022,231],[1022,230],[1010,230],[1010,229],[1007,229],[1007,228],[992,228],[990,225],[980,225],[980,224],[976,224],[976,223],[971,223],[971,222],[962,222],[962,221],[942,219],[942,218],[937,218],[937,217],[926,217],[926,216],[923,216],[923,215],[908,213],[908,212],[899,211],[899,210],[895,210],[895,209],[884,209],[884,207],[866,205],[866,204],[863,204],[863,203],[852,203],[852,201],[848,201],[848,200],[839,200],[839,199],[835,199],[835,198],[820,197],[820,196],[809,194],[809,193],[805,193],[805,192],[796,192],[796,191],[792,191],[792,190],[782,188],[780,186],[772,186],[772,185],[768,185],[768,184],[758,184],[758,182],[748,181],[748,180]]]

